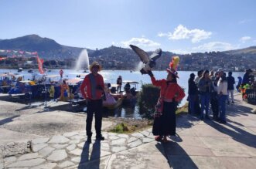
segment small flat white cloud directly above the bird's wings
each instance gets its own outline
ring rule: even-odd
[[[155,48],[159,48],[159,46],[161,45],[158,42],[154,42],[150,39],[145,39],[145,38],[131,38],[128,41],[123,41],[121,42],[121,44],[125,47],[128,47],[129,45],[135,45],[135,46],[140,46],[146,49],[155,49]]]

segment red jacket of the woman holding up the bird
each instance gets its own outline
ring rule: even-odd
[[[169,83],[167,86],[166,79],[156,80],[154,76],[151,77],[151,81],[154,86],[161,87],[160,96],[163,99],[172,100],[175,98],[176,102],[179,102],[186,96],[183,89],[177,83]]]

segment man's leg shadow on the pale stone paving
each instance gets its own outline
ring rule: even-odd
[[[101,141],[95,141],[93,148],[90,152],[90,144],[87,142],[84,143],[83,151],[81,154],[80,163],[78,169],[91,168],[99,169],[101,163]]]

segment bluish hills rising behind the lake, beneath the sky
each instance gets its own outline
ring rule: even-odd
[[[53,39],[42,38],[39,35],[26,35],[15,39],[0,40],[0,49],[23,50],[39,53],[44,59],[77,59],[82,48],[63,46]],[[110,46],[104,49],[87,49],[90,62],[97,60],[104,64],[105,69],[135,69],[139,58],[131,49]],[[0,53],[5,54],[5,53]],[[151,52],[148,52],[150,55]],[[156,69],[166,69],[172,56],[180,57],[179,69],[225,69],[244,70],[255,69],[256,46],[246,49],[237,49],[224,52],[197,52],[179,55],[172,52],[162,52],[162,57],[157,61]]]

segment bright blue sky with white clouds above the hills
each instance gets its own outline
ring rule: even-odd
[[[0,39],[187,53],[256,46],[254,0],[0,0]]]

